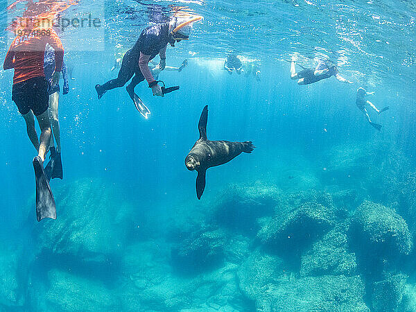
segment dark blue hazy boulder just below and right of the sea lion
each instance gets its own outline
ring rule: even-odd
[[[279,190],[257,181],[251,186],[233,185],[221,198],[214,213],[216,222],[244,234],[255,234],[259,230],[257,218],[274,214]]]

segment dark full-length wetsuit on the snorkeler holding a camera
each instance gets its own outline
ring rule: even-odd
[[[134,77],[128,86],[130,89],[134,89],[145,78],[149,84],[153,83],[155,79],[148,67],[148,62],[159,53],[161,58],[166,58],[168,43],[174,43],[169,35],[169,23],[156,24],[145,28],[135,46],[123,56],[119,76],[101,85],[101,92],[123,87],[133,75]]]

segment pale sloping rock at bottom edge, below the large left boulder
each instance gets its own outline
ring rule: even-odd
[[[39,311],[119,311],[116,297],[94,279],[51,270],[48,280],[49,290],[39,294],[45,300]]]

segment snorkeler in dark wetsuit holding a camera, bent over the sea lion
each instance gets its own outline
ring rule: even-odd
[[[148,63],[159,54],[160,62],[157,68],[162,71],[166,67],[167,44],[175,46],[175,42],[189,40],[193,22],[200,19],[202,17],[172,17],[166,23],[155,24],[145,28],[141,32],[135,46],[123,56],[123,62],[117,78],[107,81],[104,85],[96,85],[98,99],[107,90],[123,87],[132,78],[126,90],[137,110],[145,118],[148,118],[150,111],[139,96],[135,94],[136,85],[146,79],[154,96],[164,96],[162,88],[157,84],[157,80],[153,77],[152,71],[148,67]]]

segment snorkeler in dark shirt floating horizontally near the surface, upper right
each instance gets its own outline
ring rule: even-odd
[[[331,76],[335,76],[335,78],[341,83],[352,83],[351,81],[340,76],[336,64],[333,64],[332,62],[319,62],[315,69],[309,69],[301,66],[302,71],[296,72],[296,60],[297,58],[294,56],[291,62],[291,79],[297,79],[298,85],[310,85],[311,83],[316,83],[322,79],[330,78]]]

